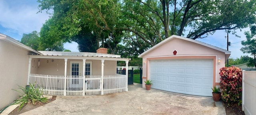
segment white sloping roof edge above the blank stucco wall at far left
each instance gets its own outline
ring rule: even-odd
[[[6,42],[8,42],[8,43],[10,43],[10,44],[12,44],[12,45],[15,45],[15,46],[17,46],[17,47],[20,47],[20,48],[22,48],[22,49],[25,49],[25,50],[27,50],[27,51],[30,51],[30,52],[32,52],[32,53],[34,53],[34,54],[36,54],[36,55],[41,55],[40,52],[38,52],[38,51],[36,51],[36,50],[34,50],[34,49],[32,49],[32,48],[30,48],[30,47],[28,47],[28,46],[26,46],[26,45],[20,43],[19,41],[15,40],[15,39],[13,39],[13,38],[11,38],[11,37],[9,37],[8,35],[4,35],[4,34],[0,33],[0,39],[3,40],[3,41],[6,41]],[[32,54],[31,54],[31,55],[32,55]]]

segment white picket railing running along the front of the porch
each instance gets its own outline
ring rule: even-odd
[[[100,88],[101,76],[52,76],[42,74],[30,74],[30,83],[36,83],[36,88],[43,88],[46,95],[57,96],[83,96],[100,95],[125,92],[126,75],[116,74],[103,77],[103,90]],[[83,81],[86,81],[85,84]],[[65,89],[66,86],[66,89]]]

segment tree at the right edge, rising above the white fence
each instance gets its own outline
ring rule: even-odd
[[[246,35],[246,41],[242,41],[241,44],[244,46],[240,50],[243,53],[250,53],[254,58],[249,59],[247,66],[256,67],[256,25],[250,27],[250,31],[244,33]]]

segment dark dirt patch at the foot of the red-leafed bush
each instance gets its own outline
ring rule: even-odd
[[[242,111],[242,105],[238,105],[238,103],[231,103],[228,106],[225,103],[226,115],[245,115],[244,111]]]

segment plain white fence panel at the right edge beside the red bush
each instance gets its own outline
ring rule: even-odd
[[[243,70],[242,109],[245,115],[256,115],[256,71]]]

